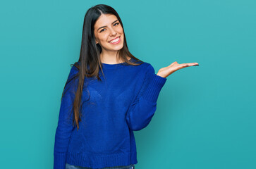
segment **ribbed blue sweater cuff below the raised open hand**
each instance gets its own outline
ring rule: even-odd
[[[142,97],[149,101],[157,102],[161,88],[164,86],[166,80],[165,77],[152,73],[148,79],[147,87],[143,92]]]

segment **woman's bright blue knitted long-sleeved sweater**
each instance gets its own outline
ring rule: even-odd
[[[85,77],[83,115],[77,130],[72,124],[73,116],[69,115],[78,84],[77,73],[78,68],[73,65],[68,75],[71,82],[66,84],[66,94],[61,100],[54,169],[65,169],[66,163],[87,168],[138,163],[133,131],[142,130],[150,123],[167,79],[156,75],[150,63],[103,63],[105,78],[99,71],[102,82]]]

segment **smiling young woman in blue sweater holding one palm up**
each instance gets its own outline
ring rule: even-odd
[[[104,4],[88,9],[80,58],[61,97],[54,143],[54,169],[133,169],[133,131],[152,119],[166,77],[198,63],[171,63],[157,74],[135,58],[118,13]]]

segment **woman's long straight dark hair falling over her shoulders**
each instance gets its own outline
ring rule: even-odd
[[[118,21],[121,23],[121,26],[123,27],[121,18],[119,17],[118,13],[114,10],[114,8],[112,8],[111,6],[107,6],[105,4],[98,4],[96,6],[92,6],[91,8],[89,8],[85,14],[80,57],[78,62],[71,64],[71,66],[73,65],[75,66],[75,68],[79,70],[78,73],[73,78],[71,78],[71,80],[78,78],[78,83],[75,84],[77,85],[77,89],[75,92],[75,99],[73,101],[73,108],[71,110],[71,113],[73,112],[73,126],[76,124],[77,130],[79,129],[79,121],[82,120],[80,102],[81,96],[83,94],[85,77],[97,77],[97,80],[101,81],[99,77],[99,69],[102,71],[102,62],[100,60],[99,54],[102,52],[102,47],[99,44],[96,44],[95,42],[94,25],[99,16],[102,14],[116,15],[116,18],[118,18]],[[133,54],[130,54],[130,51],[128,50],[128,46],[126,43],[126,35],[124,29],[123,35],[123,48],[118,51],[118,60],[121,59],[122,61],[124,61],[124,63],[127,63],[128,65],[142,64],[143,61],[140,61],[140,59],[135,58]],[[135,62],[129,61],[127,56],[132,58],[132,60],[134,60]],[[137,61],[139,63],[136,63]],[[104,75],[103,71],[102,74]],[[67,80],[66,84],[68,84],[68,82],[70,82],[71,80]],[[65,87],[63,89],[61,99],[65,93]]]

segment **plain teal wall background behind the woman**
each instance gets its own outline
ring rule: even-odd
[[[130,52],[167,77],[137,169],[256,168],[256,2],[1,1],[0,168],[53,168],[61,92],[85,12],[116,9]]]

